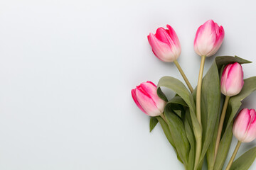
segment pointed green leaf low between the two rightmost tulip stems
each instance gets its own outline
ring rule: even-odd
[[[230,144],[233,137],[232,126],[225,131],[222,139],[220,140],[220,145],[218,148],[218,154],[215,160],[214,170],[221,170],[225,163],[225,159],[228,156],[228,150],[230,149]],[[212,161],[212,160],[211,160]]]

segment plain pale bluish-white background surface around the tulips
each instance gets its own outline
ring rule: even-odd
[[[195,87],[201,58],[193,38],[210,18],[225,29],[217,55],[251,60],[245,78],[256,75],[253,1],[1,0],[0,169],[183,169],[160,126],[149,133],[131,89],[166,75],[183,81],[147,42],[166,24]],[[255,108],[256,94],[243,103]]]

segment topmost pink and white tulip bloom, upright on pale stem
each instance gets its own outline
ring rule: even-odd
[[[194,50],[200,56],[210,57],[220,48],[224,38],[224,29],[213,20],[208,20],[196,31]]]

